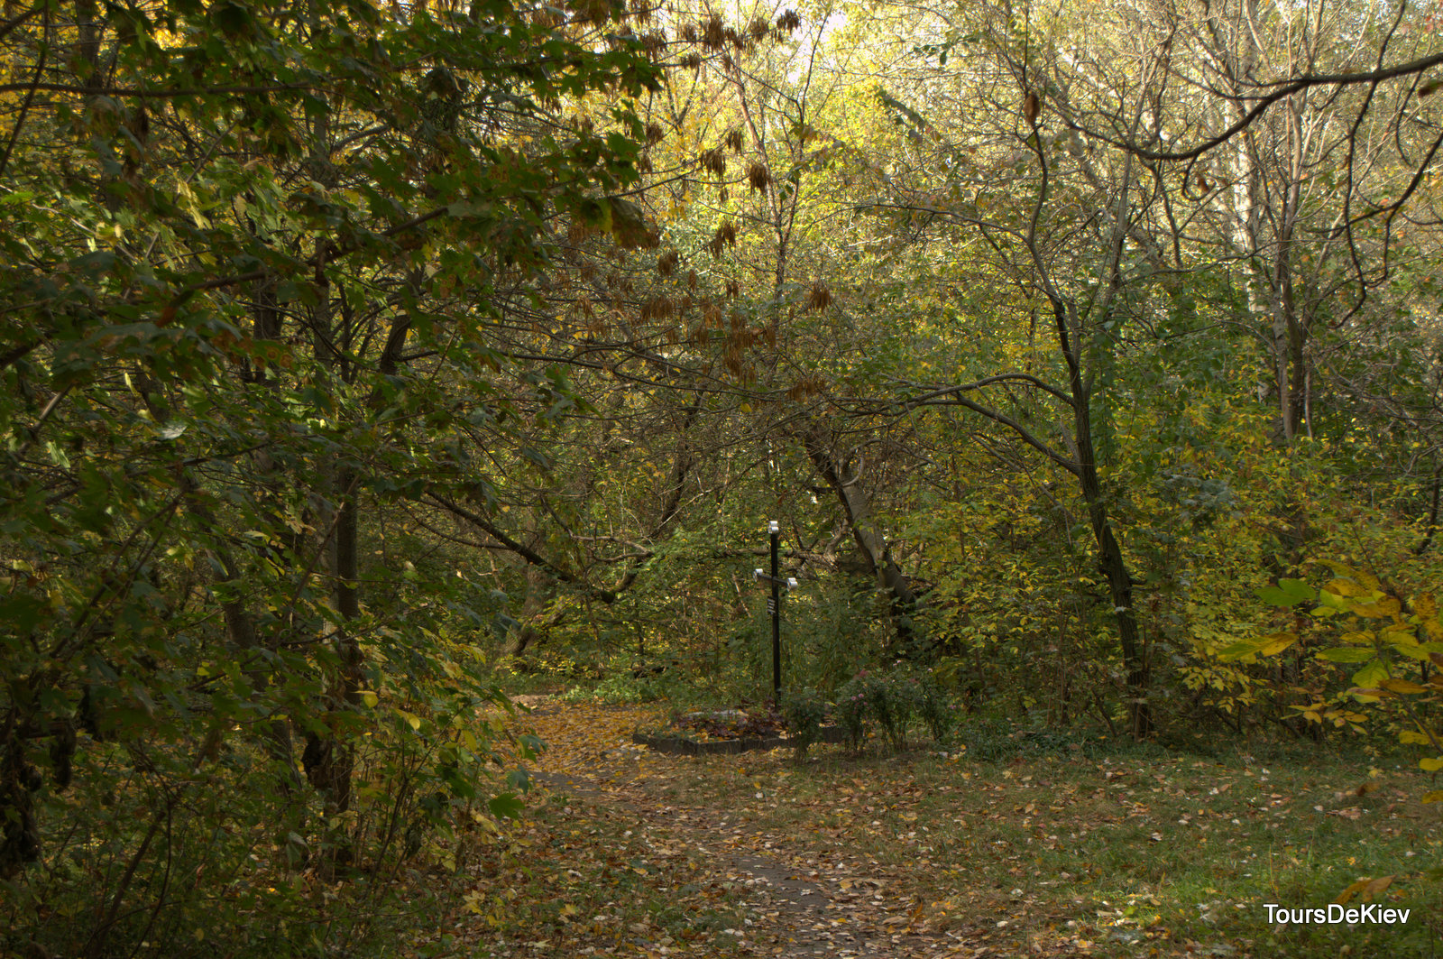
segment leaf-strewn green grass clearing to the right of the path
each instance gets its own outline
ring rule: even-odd
[[[1003,726],[961,738],[948,755],[815,747],[801,767],[781,752],[693,758],[665,789],[668,802],[734,810],[797,855],[874,861],[896,874],[892,895],[1003,952],[1043,942],[1117,956],[1439,950],[1429,872],[1443,830],[1437,807],[1416,800],[1427,777],[1408,757],[1277,744],[1206,757]],[[1267,923],[1266,903],[1326,907],[1355,880],[1384,875],[1395,878],[1377,901],[1410,910],[1404,926]]]

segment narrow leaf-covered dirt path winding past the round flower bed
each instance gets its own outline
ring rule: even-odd
[[[668,793],[678,791],[678,780],[685,780],[687,764],[696,760],[655,755],[631,745],[618,728],[602,729],[595,722],[577,728],[569,716],[574,711],[558,703],[537,699],[528,705],[532,713],[524,724],[551,745],[534,770],[550,800],[605,813],[658,858],[700,858],[706,874],[745,906],[743,926],[727,930],[742,953],[835,959],[987,955],[958,933],[929,930],[919,904],[890,895],[896,877],[873,864],[834,851],[810,855],[795,846],[775,848],[729,810],[670,800]]]

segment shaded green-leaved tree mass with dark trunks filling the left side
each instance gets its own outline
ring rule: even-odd
[[[4,22],[7,947],[271,952],[280,924],[199,911],[227,877],[394,861],[478,797],[489,747],[459,716],[495,693],[459,624],[495,599],[420,553],[407,576],[385,562],[424,497],[486,507],[452,430],[524,448],[528,409],[564,394],[498,348],[491,305],[534,286],[556,217],[616,225],[641,136],[625,100],[615,136],[553,124],[521,147],[563,98],[655,87],[638,39],[593,48],[623,16],[82,3]],[[408,787],[358,803],[362,770]],[[35,924],[38,903],[92,895],[92,920]]]

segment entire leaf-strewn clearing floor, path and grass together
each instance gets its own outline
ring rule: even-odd
[[[680,757],[631,744],[664,708],[531,703],[509,719],[550,747],[528,809],[478,830],[442,952],[1261,958],[1439,942],[1443,832],[1405,757],[1203,757],[997,728],[952,750],[818,745],[802,764]],[[1326,907],[1382,877],[1374,908],[1410,910],[1405,924],[1267,921],[1268,903]]]

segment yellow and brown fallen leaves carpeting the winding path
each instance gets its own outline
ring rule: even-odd
[[[641,841],[641,862],[655,868],[657,877],[685,864],[701,881],[690,887],[664,884],[661,891],[694,887],[693,914],[736,919],[713,934],[687,942],[672,936],[670,943],[652,943],[654,953],[635,955],[716,955],[719,947],[737,955],[837,959],[990,952],[954,930],[932,929],[926,904],[899,897],[896,877],[876,859],[759,832],[745,806],[732,802],[769,802],[765,790],[729,799],[724,806],[696,802],[706,800],[706,794],[675,802],[670,794],[678,786],[704,789],[697,774],[716,763],[703,760],[698,768],[696,758],[633,745],[631,732],[655,726],[661,711],[532,702],[535,709],[518,719],[518,728],[548,747],[531,770],[540,803],[596,816],[612,825],[612,839]],[[788,757],[786,751],[775,751],[749,765],[775,767],[789,776]],[[719,760],[736,764],[734,757]],[[771,802],[775,804],[775,797]],[[595,838],[605,841],[605,833]]]

